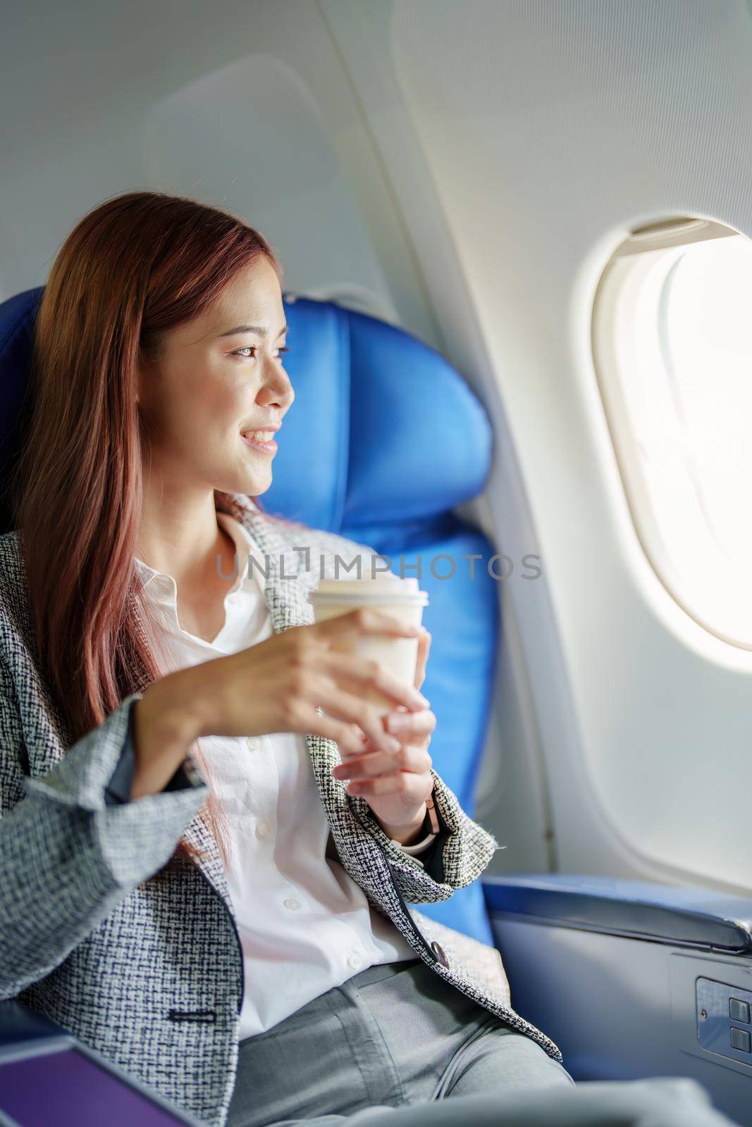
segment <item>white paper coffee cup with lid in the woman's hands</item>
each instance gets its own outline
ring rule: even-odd
[[[316,622],[326,622],[327,619],[366,606],[380,614],[388,614],[399,622],[421,625],[423,607],[428,603],[428,595],[418,588],[417,579],[400,579],[392,573],[373,579],[322,579],[318,589],[311,592],[308,597],[313,606]],[[418,660],[417,638],[368,635],[342,639],[333,648],[379,662],[399,681],[409,685],[415,684]],[[393,701],[375,690],[369,690],[364,699],[374,704],[381,715],[391,712],[397,707]]]

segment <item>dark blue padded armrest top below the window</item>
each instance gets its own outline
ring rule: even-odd
[[[752,897],[567,872],[487,877],[489,915],[752,955]]]

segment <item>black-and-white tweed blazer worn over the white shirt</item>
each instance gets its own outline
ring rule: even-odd
[[[277,522],[233,496],[266,556],[277,632],[312,621],[307,593],[321,577],[321,560],[329,577],[337,553],[347,561],[373,554],[333,533]],[[134,802],[106,797],[129,743],[131,709],[148,687],[139,683],[71,746],[34,659],[18,533],[0,536],[0,999],[25,1002],[222,1127],[237,1070],[244,967],[221,857],[198,816],[206,782],[189,755],[179,786]],[[369,902],[441,978],[561,1061],[554,1041],[512,1009],[498,951],[409,906],[449,899],[476,880],[496,840],[433,771],[441,863],[424,869],[389,841],[362,796],[348,796],[331,778],[336,743],[307,739],[338,858]],[[200,863],[174,855],[183,834],[203,851]]]

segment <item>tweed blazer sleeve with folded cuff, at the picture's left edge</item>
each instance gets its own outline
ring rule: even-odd
[[[170,859],[209,795],[191,756],[172,789],[107,800],[133,693],[43,778],[29,778],[14,680],[0,662],[0,999],[48,975]]]

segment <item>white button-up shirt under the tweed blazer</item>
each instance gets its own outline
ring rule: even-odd
[[[180,627],[175,579],[136,560],[166,631],[171,668],[186,668],[254,646],[273,633],[263,556],[228,513],[218,522],[236,544],[225,621],[207,642]],[[204,736],[201,751],[229,831],[225,864],[245,964],[240,1037],[271,1029],[359,970],[415,959],[391,920],[371,907],[338,861],[326,857],[329,823],[306,737]]]

